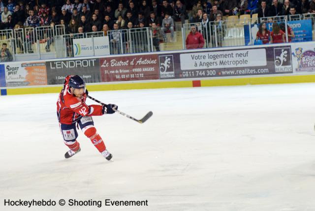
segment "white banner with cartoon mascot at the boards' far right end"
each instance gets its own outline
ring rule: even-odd
[[[293,71],[315,72],[315,45],[307,43],[292,44]]]

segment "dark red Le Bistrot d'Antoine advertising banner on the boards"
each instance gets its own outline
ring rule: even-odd
[[[159,79],[158,55],[100,58],[102,82]]]

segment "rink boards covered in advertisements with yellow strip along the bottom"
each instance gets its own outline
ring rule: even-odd
[[[0,64],[1,95],[57,93],[79,74],[90,91],[315,82],[315,42]]]

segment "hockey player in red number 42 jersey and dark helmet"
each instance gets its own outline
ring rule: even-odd
[[[107,160],[110,160],[112,154],[106,150],[104,141],[96,132],[92,116],[115,113],[118,106],[114,104],[88,106],[85,104],[87,94],[85,82],[79,75],[66,76],[57,102],[60,130],[65,145],[70,148],[64,157],[72,157],[81,150],[80,143],[76,140],[78,137],[77,125],[84,135],[92,141],[97,150]]]

